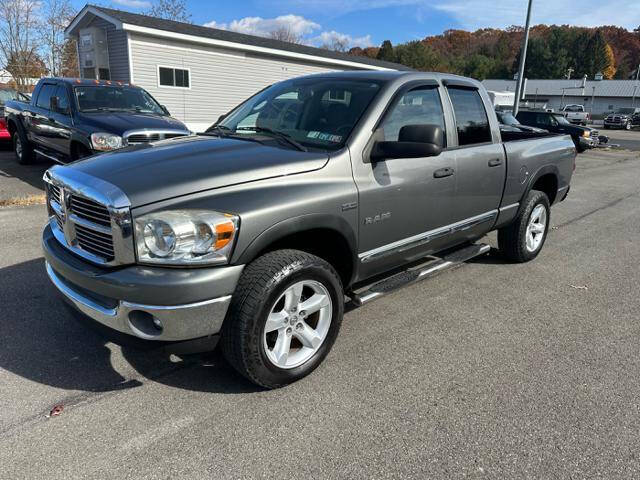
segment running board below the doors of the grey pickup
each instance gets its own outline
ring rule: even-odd
[[[429,261],[407,268],[374,284],[364,286],[349,294],[353,303],[360,307],[398,288],[435,276],[436,274],[460,266],[467,260],[483,255],[491,250],[484,243],[468,245],[442,258],[427,257]]]

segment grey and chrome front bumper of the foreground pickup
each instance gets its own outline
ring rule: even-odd
[[[103,269],[43,232],[51,282],[77,311],[144,340],[182,342],[220,332],[243,266]]]

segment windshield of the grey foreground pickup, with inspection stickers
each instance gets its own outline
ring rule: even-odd
[[[339,78],[287,80],[241,104],[217,127],[226,134],[275,133],[304,147],[337,150],[344,145],[381,85],[377,81]]]

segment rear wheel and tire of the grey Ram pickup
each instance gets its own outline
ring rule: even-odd
[[[538,256],[549,231],[551,208],[544,192],[531,190],[520,213],[508,227],[498,230],[498,248],[512,262],[524,263]]]

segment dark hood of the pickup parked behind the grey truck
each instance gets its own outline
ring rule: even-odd
[[[127,130],[171,129],[189,130],[184,123],[172,117],[151,113],[96,112],[80,114],[80,121],[108,133],[122,135]]]

